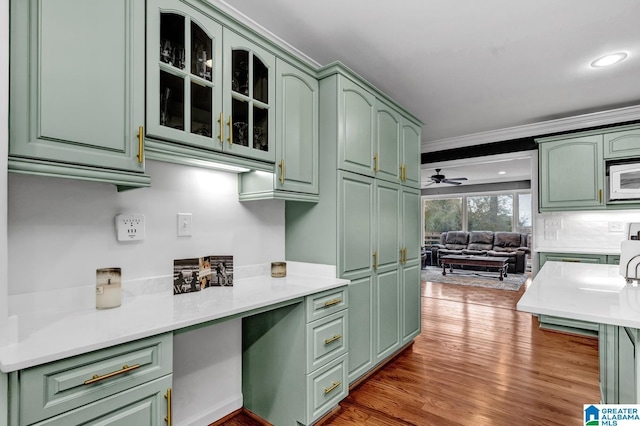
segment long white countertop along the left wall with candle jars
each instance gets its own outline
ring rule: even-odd
[[[349,284],[335,278],[335,268],[332,277],[317,275],[317,265],[305,268],[305,264],[295,264],[287,262],[285,278],[263,274],[235,279],[233,287],[209,287],[174,296],[172,277],[168,276],[156,283],[160,291],[123,297],[117,308],[24,314],[17,320],[17,342],[0,347],[0,371],[16,371],[269,306],[296,303],[310,294]]]

